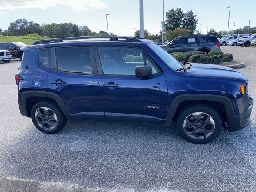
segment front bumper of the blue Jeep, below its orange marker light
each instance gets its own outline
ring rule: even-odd
[[[250,119],[250,115],[252,113],[253,107],[253,98],[249,94],[241,98],[238,102],[238,108],[240,115],[231,115],[228,120],[228,131],[238,131],[242,128],[248,126],[252,120]],[[242,109],[241,109],[242,108]]]

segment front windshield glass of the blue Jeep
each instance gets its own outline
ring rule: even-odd
[[[174,59],[168,52],[162,49],[160,46],[150,42],[148,46],[154,50],[154,52],[172,69],[180,69],[183,68],[182,65]]]

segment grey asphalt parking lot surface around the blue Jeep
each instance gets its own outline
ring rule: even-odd
[[[222,47],[242,68],[256,98],[256,48]],[[20,115],[14,74],[19,60],[0,62],[0,191],[253,192],[256,116],[209,144],[186,142],[171,128],[68,122],[57,134]],[[24,186],[24,187],[22,187]]]

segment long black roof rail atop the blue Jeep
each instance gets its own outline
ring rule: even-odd
[[[64,37],[64,38],[39,40],[39,41],[36,41],[36,42],[32,43],[32,45],[48,44],[48,43],[60,43],[60,42],[64,42],[64,40],[78,40],[78,39],[109,39],[110,41],[140,42],[140,40],[138,38],[134,38],[134,37],[84,36],[84,37]]]

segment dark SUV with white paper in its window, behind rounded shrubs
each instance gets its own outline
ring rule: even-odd
[[[160,45],[168,53],[202,51],[207,55],[210,50],[220,50],[220,42],[212,35],[186,35],[176,37],[165,45]]]

